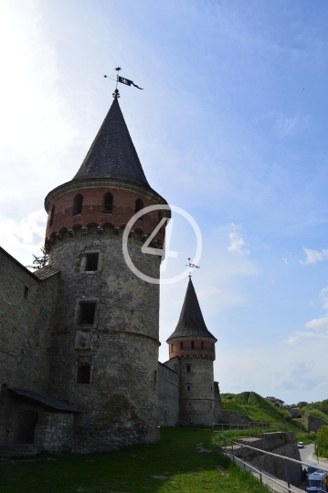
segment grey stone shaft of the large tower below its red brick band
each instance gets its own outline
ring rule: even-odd
[[[129,239],[136,267],[158,278],[160,257],[141,252]],[[86,252],[99,252],[100,269],[81,268]],[[84,411],[75,419],[72,449],[108,450],[158,438],[159,287],[137,278],[122,257],[122,236],[77,231],[50,252],[60,267],[58,317],[51,350],[51,394]],[[79,322],[79,304],[97,303],[93,324]],[[90,365],[90,382],[78,383],[79,365]]]

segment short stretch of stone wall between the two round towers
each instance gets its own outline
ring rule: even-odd
[[[170,363],[170,364],[169,364]],[[176,426],[179,422],[179,360],[158,362],[158,425]]]

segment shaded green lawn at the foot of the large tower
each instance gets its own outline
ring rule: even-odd
[[[212,449],[211,438],[206,428],[162,428],[155,444],[5,461],[1,493],[269,492]]]

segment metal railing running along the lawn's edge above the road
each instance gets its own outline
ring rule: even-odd
[[[217,440],[218,439],[218,440]],[[218,443],[217,443],[218,441]],[[315,467],[315,465],[304,462],[302,460],[297,460],[293,459],[291,457],[286,457],[286,456],[280,456],[279,454],[273,454],[272,452],[268,452],[266,450],[262,450],[260,448],[254,447],[254,446],[248,446],[246,444],[234,441],[230,438],[227,437],[227,435],[221,435],[219,432],[215,432],[213,434],[213,443],[219,450],[225,455],[230,457],[230,459],[235,462],[238,467],[248,469],[252,473],[258,474],[259,475],[259,481],[261,484],[263,484],[263,477],[267,478],[266,481],[266,486],[272,489],[273,491],[276,491],[275,489],[270,487],[270,482],[274,483],[275,485],[279,486],[280,488],[283,488],[283,490],[286,490],[290,493],[299,493],[300,489],[297,487],[297,489],[291,488],[291,480],[290,480],[290,470],[291,467],[289,466],[290,463],[293,464],[299,464],[301,467]],[[256,457],[257,457],[257,464],[258,467],[255,467],[253,464],[250,464],[247,462],[244,458],[245,456],[245,449],[250,450]],[[238,456],[237,456],[238,454]],[[263,470],[260,464],[260,455],[262,456],[272,456],[275,458],[279,458],[280,460],[283,461],[284,463],[284,470],[285,470],[285,475],[286,475],[286,482],[284,482],[282,479],[278,479],[277,477],[272,476],[270,473],[266,472]],[[318,467],[321,471],[327,472],[328,473],[328,468],[325,467]],[[269,481],[268,481],[269,480]],[[282,482],[281,482],[282,481]],[[269,484],[268,484],[269,482]]]

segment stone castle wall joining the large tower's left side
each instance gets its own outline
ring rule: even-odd
[[[47,392],[58,275],[38,280],[0,248],[0,385]]]

